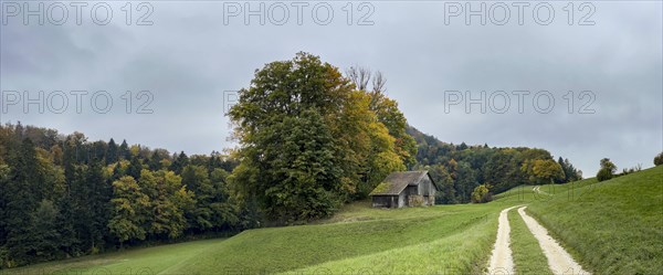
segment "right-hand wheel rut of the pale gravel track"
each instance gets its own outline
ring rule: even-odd
[[[571,255],[569,255],[569,253],[567,253],[557,241],[548,234],[548,231],[544,226],[525,213],[526,208],[527,207],[519,208],[518,213],[525,221],[525,224],[527,224],[529,231],[534,234],[536,240],[538,240],[544,254],[548,258],[550,271],[552,271],[554,274],[590,274],[573,261]],[[502,219],[502,215],[499,219]],[[502,225],[502,220],[499,220],[499,224]]]

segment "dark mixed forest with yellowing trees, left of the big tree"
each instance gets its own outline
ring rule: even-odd
[[[229,192],[235,166],[219,152],[188,157],[0,126],[0,264],[252,228],[252,208]]]

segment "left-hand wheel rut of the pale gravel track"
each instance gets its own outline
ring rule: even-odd
[[[488,262],[488,274],[514,274],[514,258],[512,257],[512,250],[509,247],[509,233],[511,226],[508,225],[507,213],[509,210],[517,208],[511,207],[499,212],[499,224],[497,225],[497,240],[495,240],[495,247],[491,254]]]

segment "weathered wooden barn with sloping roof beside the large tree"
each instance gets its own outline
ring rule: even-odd
[[[392,172],[370,192],[373,208],[434,205],[438,187],[428,171]]]

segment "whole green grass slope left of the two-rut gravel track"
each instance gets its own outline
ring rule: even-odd
[[[140,268],[151,274],[298,273],[320,268],[334,273],[366,268],[373,273],[470,273],[480,271],[482,266],[476,263],[486,260],[484,252],[494,241],[496,214],[502,208],[503,203],[490,203],[380,210],[356,203],[320,224],[248,230],[225,241],[193,242],[197,247],[186,243],[130,250],[20,267],[8,274],[115,274]],[[194,256],[173,258],[180,253]],[[421,261],[427,264],[420,265]]]

